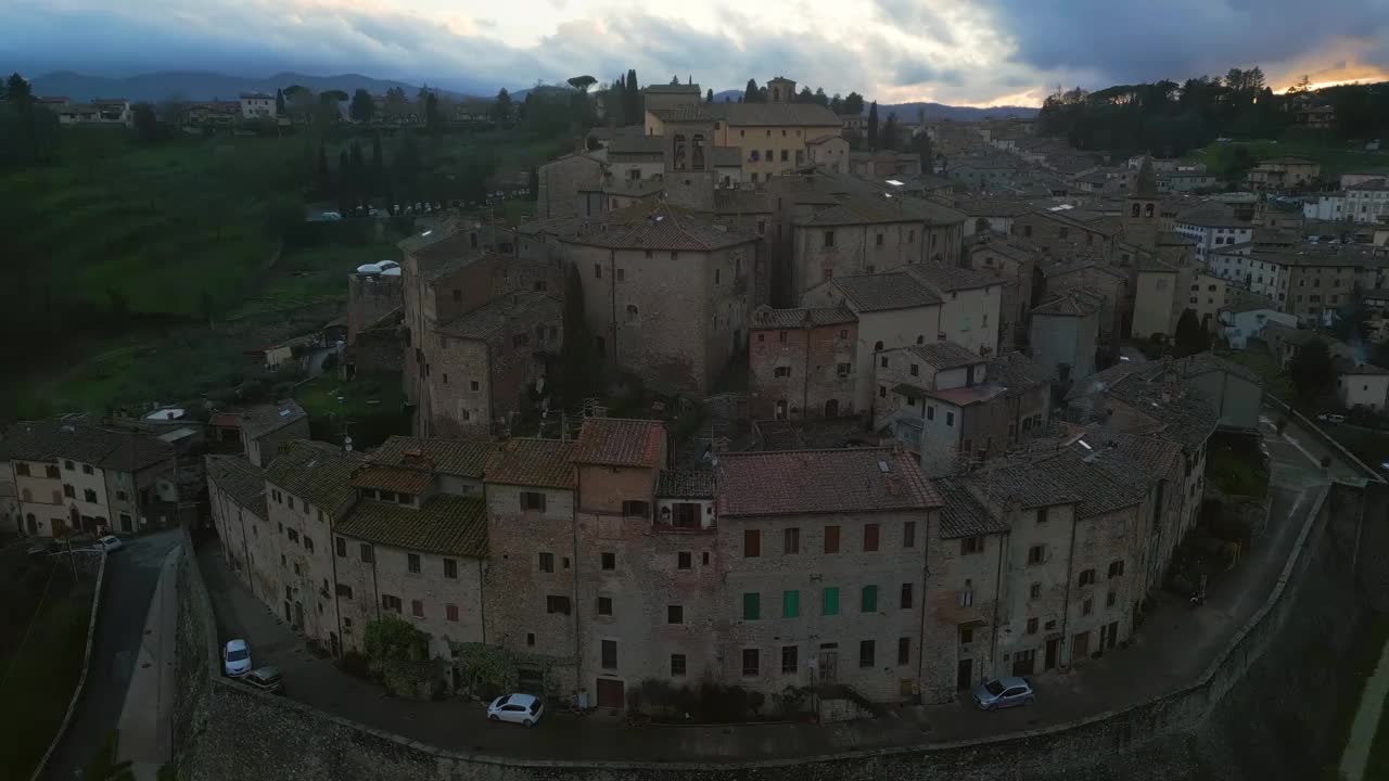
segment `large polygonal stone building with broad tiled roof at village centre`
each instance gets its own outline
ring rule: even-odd
[[[561,239],[607,365],[707,390],[746,349],[758,236],[672,206],[608,213]]]

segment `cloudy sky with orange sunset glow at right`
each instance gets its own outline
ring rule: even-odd
[[[1389,78],[1389,0],[0,0],[0,69],[360,72],[493,93],[783,74],[885,103],[1039,104],[1261,65]]]

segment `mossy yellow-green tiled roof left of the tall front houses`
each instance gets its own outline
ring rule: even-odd
[[[333,534],[407,550],[483,559],[486,510],[482,499],[450,493],[439,493],[419,509],[364,499],[333,525]]]

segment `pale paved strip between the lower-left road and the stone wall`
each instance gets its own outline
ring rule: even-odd
[[[172,759],[172,717],[178,657],[178,560],[174,548],[160,567],[160,581],[150,598],[144,636],[135,657],[131,688],[121,709],[119,760],[131,760],[138,781],[154,781],[160,766]]]

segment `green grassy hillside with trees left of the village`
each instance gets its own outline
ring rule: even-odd
[[[0,249],[10,250],[0,254],[13,264],[0,321],[32,335],[0,349],[21,367],[0,379],[0,420],[226,389],[256,371],[246,350],[338,317],[346,274],[399,257],[394,231],[408,229],[343,222],[304,240],[306,202],[335,203],[314,192],[318,140],[307,136],[142,145],[119,129],[63,133],[58,164],[0,174]],[[369,139],[328,139],[331,182],[353,140],[369,160]],[[382,147],[378,186],[393,195],[378,203],[467,200],[465,182],[524,185],[557,151],[522,132],[397,136]],[[508,200],[478,214],[508,222],[532,211]]]

